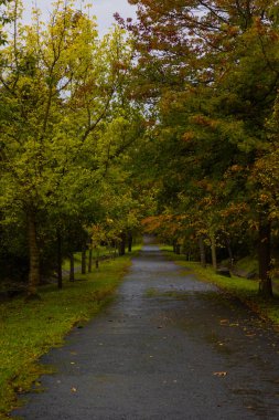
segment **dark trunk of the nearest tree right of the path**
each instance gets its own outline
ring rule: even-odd
[[[262,297],[272,297],[272,282],[270,277],[270,222],[264,218],[259,221],[259,294]]]

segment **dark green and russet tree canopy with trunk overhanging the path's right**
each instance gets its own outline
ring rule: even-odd
[[[270,191],[278,148],[277,2],[130,3],[138,22],[118,20],[138,53],[132,94],[152,107],[161,211],[184,220],[180,235],[208,239],[214,265],[216,246],[253,238],[260,293],[270,295],[270,229],[276,233],[278,223]]]

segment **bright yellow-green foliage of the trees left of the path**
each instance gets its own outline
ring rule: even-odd
[[[54,260],[57,235],[67,255],[112,213],[118,230],[138,224],[124,161],[142,117],[125,98],[132,49],[120,28],[99,39],[74,1],[54,3],[46,23],[34,9],[32,25],[21,9],[11,1],[14,33],[1,49],[0,223],[29,227],[34,292],[34,261]]]

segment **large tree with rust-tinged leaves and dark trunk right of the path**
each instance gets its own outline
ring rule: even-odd
[[[157,105],[155,137],[162,153],[169,150],[160,159],[170,161],[170,150],[174,156],[174,165],[161,166],[163,182],[176,178],[178,198],[191,179],[207,179],[225,192],[223,211],[246,204],[247,221],[258,227],[259,291],[269,296],[270,209],[254,193],[250,172],[269,153],[266,119],[279,81],[277,2],[131,3],[139,18],[126,24],[139,54],[135,95]]]

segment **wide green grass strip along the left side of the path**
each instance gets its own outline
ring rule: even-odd
[[[130,265],[130,256],[100,264],[78,281],[40,288],[41,301],[17,298],[0,304],[0,418],[17,406],[17,392],[30,389],[45,371],[39,358],[61,346],[65,335],[86,323],[108,303]],[[50,369],[50,368],[49,368]]]

